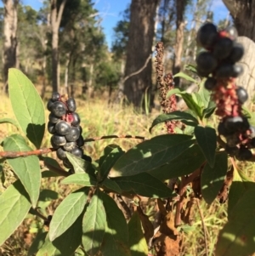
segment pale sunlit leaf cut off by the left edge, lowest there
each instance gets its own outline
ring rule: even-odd
[[[9,185],[0,196],[0,246],[26,218],[31,208],[29,196],[20,180]]]

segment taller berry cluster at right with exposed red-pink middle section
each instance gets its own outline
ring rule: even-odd
[[[244,48],[237,43],[235,27],[218,31],[217,26],[206,23],[197,32],[196,41],[206,51],[196,58],[197,73],[207,77],[205,88],[212,90],[212,99],[220,117],[218,134],[226,139],[225,150],[239,160],[252,157],[255,147],[255,128],[242,114],[241,105],[248,99],[246,89],[237,86],[235,78],[242,73],[241,60]]]

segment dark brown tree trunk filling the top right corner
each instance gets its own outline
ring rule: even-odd
[[[239,36],[245,36],[255,42],[255,4],[251,0],[223,0],[229,9]]]

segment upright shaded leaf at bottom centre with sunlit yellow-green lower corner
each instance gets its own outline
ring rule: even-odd
[[[139,214],[134,212],[132,218],[128,222],[129,247],[132,256],[147,256],[148,247],[144,238]]]

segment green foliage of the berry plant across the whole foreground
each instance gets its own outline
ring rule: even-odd
[[[182,74],[181,76],[185,77]],[[48,225],[49,229],[44,229],[41,225],[37,227],[37,236],[28,255],[37,253],[39,256],[70,256],[74,253],[100,253],[103,256],[145,256],[150,252],[147,242],[151,237],[147,236],[153,233],[153,229],[150,230],[150,209],[146,209],[146,213],[145,210],[139,213],[137,198],[159,198],[158,202],[161,202],[161,198],[167,198],[166,201],[174,206],[174,199],[183,189],[182,185],[185,185],[186,194],[182,196],[193,194],[193,189],[195,195],[202,196],[205,202],[212,204],[224,185],[228,170],[231,170],[228,155],[217,144],[215,129],[207,125],[215,106],[212,105],[211,95],[200,85],[199,91],[193,94],[180,89],[170,92],[180,95],[190,106],[190,112],[173,111],[170,114],[161,114],[150,126],[151,131],[159,123],[181,121],[186,128],[193,128],[191,135],[184,134],[184,130],[178,128],[179,134],[157,135],[127,151],[123,151],[120,145],[110,144],[94,162],[66,153],[74,174],[65,172],[53,158],[40,156],[40,160],[48,167],[48,170],[44,169],[41,174],[37,155],[18,156],[20,152],[33,150],[28,143],[31,142],[36,148],[42,144],[45,126],[42,100],[32,83],[20,71],[13,69],[9,72],[9,86],[10,100],[17,120],[2,118],[0,123],[8,122],[18,126],[26,137],[12,134],[2,143],[4,151],[12,151],[10,156],[17,154],[17,157],[3,159],[0,166],[1,180],[5,180],[2,178],[6,172],[4,164],[8,166],[8,172],[15,175],[14,179],[8,180],[11,184],[0,195],[1,245],[21,222],[32,214],[43,217],[44,225]],[[31,96],[34,97],[33,100]],[[36,108],[39,114],[36,114]],[[56,171],[57,174],[54,174]],[[65,177],[60,181],[61,187],[68,185],[71,189],[69,195],[63,196],[60,191],[42,188],[41,176],[50,180],[51,177],[61,175]],[[199,179],[198,189],[195,189],[194,184],[192,187],[189,185],[195,181],[190,177]],[[169,184],[171,179],[176,181],[178,193],[165,184],[166,181]],[[56,185],[56,189],[59,187]],[[233,184],[229,191],[229,222],[219,233],[216,255],[254,253],[254,193],[254,182],[235,168]],[[113,194],[117,196],[112,196]],[[137,207],[137,211],[129,213],[128,224],[116,204],[116,198],[122,196],[133,198],[128,203],[132,208]],[[50,220],[42,214],[47,214],[45,206],[53,201],[57,203]],[[187,206],[188,204],[189,202]],[[169,219],[167,221],[169,222]],[[187,220],[185,221],[186,223],[178,228],[180,232],[195,230],[187,225]]]

